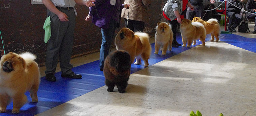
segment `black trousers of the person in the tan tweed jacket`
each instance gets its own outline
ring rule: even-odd
[[[124,21],[125,21],[125,27],[127,25],[127,19],[124,18]],[[133,32],[143,32],[143,29],[144,29],[144,22],[142,21],[137,21],[137,20],[131,20],[129,19],[128,20],[128,26],[127,28],[129,28],[130,30],[132,30]]]

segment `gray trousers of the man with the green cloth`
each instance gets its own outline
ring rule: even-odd
[[[47,10],[47,17],[51,16],[51,38],[46,44],[45,74],[55,73],[58,59],[60,59],[62,73],[69,74],[73,68],[70,58],[74,38],[75,13],[74,9],[61,9],[60,11],[68,16],[69,21],[62,22],[56,14]]]

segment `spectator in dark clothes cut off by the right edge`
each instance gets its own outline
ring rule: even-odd
[[[256,12],[256,0],[248,0],[248,2],[246,4],[246,10],[248,12],[255,13]],[[246,13],[246,17],[249,19],[256,20],[256,15],[248,13],[248,12]],[[256,21],[255,20],[254,20],[254,31],[252,32],[253,34],[256,34]]]

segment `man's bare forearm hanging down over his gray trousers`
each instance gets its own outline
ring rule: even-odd
[[[51,12],[53,12],[54,14],[58,15],[60,21],[68,21],[68,16],[61,12],[60,10],[58,10],[52,3],[52,1],[50,0],[42,0],[43,4],[45,5],[45,7],[47,9],[49,9]]]

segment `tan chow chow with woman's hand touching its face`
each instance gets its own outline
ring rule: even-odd
[[[191,22],[189,19],[182,19],[180,24],[180,31],[182,36],[182,43],[183,47],[186,46],[187,41],[188,45],[187,47],[191,46],[191,43],[193,41],[193,45],[196,44],[196,40],[199,38],[202,41],[202,46],[205,46],[205,28],[202,23],[200,22]]]

